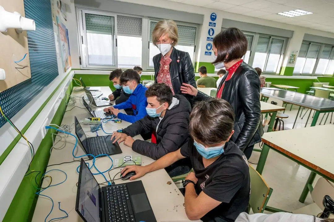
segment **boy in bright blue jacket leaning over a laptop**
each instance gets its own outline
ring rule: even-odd
[[[147,115],[147,98],[145,97],[147,88],[140,84],[139,74],[133,69],[125,70],[120,77],[120,85],[123,85],[124,92],[131,94],[131,96],[126,102],[105,108],[104,111],[111,111],[117,118],[131,123],[144,118]],[[119,111],[128,108],[132,108],[133,115],[127,115]]]

